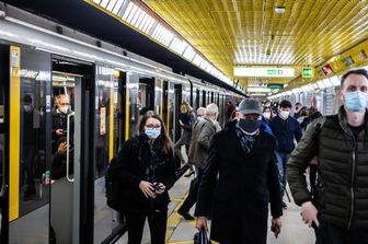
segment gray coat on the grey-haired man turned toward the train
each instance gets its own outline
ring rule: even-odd
[[[188,162],[197,167],[205,169],[210,140],[214,135],[220,130],[221,128],[218,123],[209,118],[196,121],[192,130]]]

